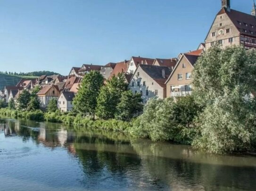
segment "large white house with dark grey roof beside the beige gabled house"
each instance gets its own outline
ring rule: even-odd
[[[166,66],[152,66],[139,64],[132,75],[129,89],[134,93],[141,93],[143,102],[150,98],[166,98],[165,81],[172,69]]]

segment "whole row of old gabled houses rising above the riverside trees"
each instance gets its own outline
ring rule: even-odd
[[[195,63],[211,46],[222,47],[242,45],[246,49],[256,47],[256,6],[250,14],[231,9],[230,0],[221,0],[222,8],[215,16],[205,43],[201,43],[194,51],[180,53],[177,58],[159,59],[132,56],[130,60],[109,62],[106,65],[83,64],[73,67],[68,76],[40,76],[38,79],[21,80],[16,86],[5,87],[0,96],[17,99],[24,90],[41,87],[37,93],[41,107],[47,107],[50,99],[58,99],[61,111],[72,109],[72,100],[77,93],[83,76],[92,70],[99,71],[107,79],[123,73],[128,88],[140,93],[143,102],[151,98],[185,96],[192,91],[192,71]],[[106,82],[105,81],[105,82]]]

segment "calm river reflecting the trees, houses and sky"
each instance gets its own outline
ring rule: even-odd
[[[256,157],[0,119],[0,191],[256,190]]]

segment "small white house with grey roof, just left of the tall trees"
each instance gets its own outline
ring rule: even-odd
[[[73,99],[74,92],[61,92],[57,102],[58,109],[62,112],[71,111],[73,108]]]

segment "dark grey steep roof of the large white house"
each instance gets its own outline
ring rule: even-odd
[[[151,65],[140,64],[140,68],[145,73],[147,73],[152,79],[154,79],[157,82],[157,84],[159,84],[162,87],[165,87],[165,81],[172,72],[172,69],[166,66],[151,66]],[[162,76],[163,70],[165,70],[165,77]]]

